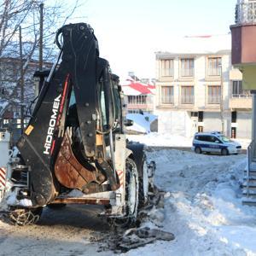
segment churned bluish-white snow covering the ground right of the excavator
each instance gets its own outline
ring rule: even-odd
[[[241,205],[245,154],[205,155],[153,150],[155,183],[166,191],[164,230],[157,241],[127,255],[256,255],[256,207]]]

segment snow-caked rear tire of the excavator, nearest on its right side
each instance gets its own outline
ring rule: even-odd
[[[127,158],[125,166],[125,217],[113,218],[113,225],[119,228],[126,228],[136,224],[139,203],[139,181],[137,165],[134,160]]]

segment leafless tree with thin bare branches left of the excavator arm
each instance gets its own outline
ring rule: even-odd
[[[79,0],[67,7],[63,1],[3,0],[0,3],[0,127],[3,113],[20,108],[20,60],[25,80],[24,102],[31,101],[34,88],[32,73],[38,69],[39,5],[44,3],[44,61],[53,61],[55,32],[73,17]],[[64,6],[66,4],[66,6]],[[22,58],[19,48],[19,26],[22,27]],[[19,61],[17,61],[19,60]]]

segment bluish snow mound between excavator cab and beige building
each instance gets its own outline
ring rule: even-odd
[[[157,117],[153,114],[147,113],[128,113],[126,115],[126,119],[131,119],[133,121],[133,125],[126,127],[128,131],[149,133],[151,131],[150,125],[155,119],[157,119]]]

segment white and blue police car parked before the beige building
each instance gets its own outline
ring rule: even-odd
[[[191,149],[197,154],[206,152],[228,155],[241,152],[241,144],[231,141],[217,131],[196,132]]]

